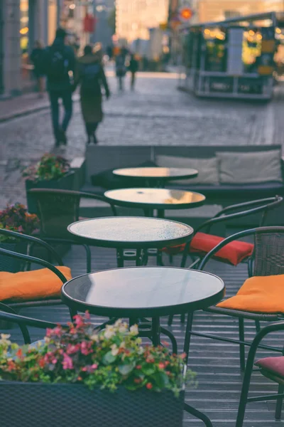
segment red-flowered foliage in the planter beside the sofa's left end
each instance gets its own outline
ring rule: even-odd
[[[30,166],[23,170],[23,176],[30,181],[50,181],[50,179],[60,179],[67,174],[70,164],[62,156],[55,154],[43,154],[40,161],[35,166]]]

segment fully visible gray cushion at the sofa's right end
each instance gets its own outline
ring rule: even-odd
[[[238,153],[218,152],[221,184],[282,182],[280,150]]]

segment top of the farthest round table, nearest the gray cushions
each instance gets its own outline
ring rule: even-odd
[[[146,179],[183,179],[195,178],[198,175],[196,169],[178,167],[129,167],[124,169],[114,169],[114,175],[129,176],[132,178]]]

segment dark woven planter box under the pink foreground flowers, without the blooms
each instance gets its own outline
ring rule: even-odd
[[[0,425],[9,427],[182,427],[184,391],[116,392],[80,384],[0,381]]]

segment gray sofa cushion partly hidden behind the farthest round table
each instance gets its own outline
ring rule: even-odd
[[[160,167],[188,167],[197,169],[198,176],[192,179],[178,179],[178,184],[219,184],[218,179],[218,162],[216,157],[210,159],[193,159],[187,157],[175,156],[157,156],[155,164]]]

